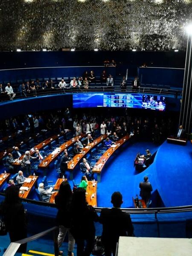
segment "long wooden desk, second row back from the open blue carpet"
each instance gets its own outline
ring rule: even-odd
[[[103,140],[105,140],[108,137],[107,134],[99,136],[96,140],[93,140],[92,143],[89,143],[87,146],[85,146],[82,149],[82,154],[76,154],[70,162],[67,164],[67,168],[70,171],[70,180],[73,180],[73,170],[76,168],[77,164],[80,162],[80,160],[87,154],[93,147],[101,143]]]

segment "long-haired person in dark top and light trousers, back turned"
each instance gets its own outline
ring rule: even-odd
[[[59,226],[59,234],[58,234],[58,248],[61,247],[64,238],[68,232],[68,256],[73,255],[75,239],[73,238],[70,225],[71,225],[71,216],[70,216],[70,205],[72,199],[72,191],[70,184],[67,180],[63,181],[59,187],[59,192],[55,196],[55,204],[58,209],[56,222]],[[60,250],[59,254],[61,255],[63,252]]]

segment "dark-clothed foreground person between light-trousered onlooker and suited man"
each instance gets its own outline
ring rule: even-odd
[[[99,221],[95,209],[87,204],[85,190],[78,188],[73,193],[71,233],[77,244],[77,256],[89,256],[95,241],[94,221]]]

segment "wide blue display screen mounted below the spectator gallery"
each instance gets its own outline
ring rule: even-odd
[[[144,108],[165,111],[164,96],[137,93],[76,93],[73,94],[73,108]]]

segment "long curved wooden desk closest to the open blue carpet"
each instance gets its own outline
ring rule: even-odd
[[[107,151],[100,157],[99,161],[96,162],[96,165],[93,167],[93,173],[97,174],[97,181],[101,181],[101,172],[103,167],[105,166],[105,163],[108,161],[108,159],[114,154],[114,152],[126,141],[128,141],[131,137],[129,135],[125,135],[122,137],[122,139],[116,141],[116,147],[108,148]]]

